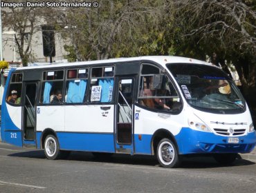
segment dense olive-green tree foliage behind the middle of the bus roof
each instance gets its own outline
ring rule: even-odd
[[[95,9],[66,10],[62,17],[62,26],[69,29],[63,37],[71,39],[78,60],[131,57],[143,53],[143,43],[161,37],[156,28],[165,1],[99,1],[99,4]],[[153,48],[154,42],[151,44]]]

